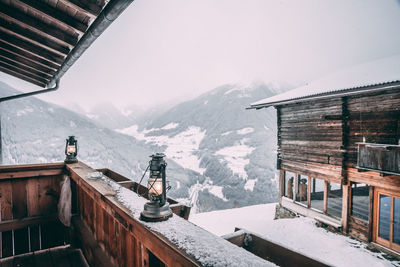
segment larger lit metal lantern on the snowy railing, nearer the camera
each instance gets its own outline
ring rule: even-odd
[[[165,175],[167,163],[164,161],[165,155],[163,153],[156,153],[150,157],[150,177],[147,181],[150,202],[144,205],[140,219],[147,222],[165,221],[172,216],[172,211],[167,202],[167,191],[170,188]]]

